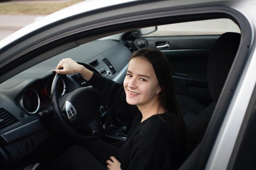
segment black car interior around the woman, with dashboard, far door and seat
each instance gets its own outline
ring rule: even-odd
[[[198,145],[179,170],[193,167],[193,161],[200,149],[200,139],[207,130],[236,56],[240,34],[228,32],[222,35],[134,37],[132,35],[135,31],[128,31],[122,40],[103,39],[82,44],[0,84],[0,165],[3,170],[22,170],[28,164],[47,161],[71,145],[82,145],[84,139],[78,137],[79,135],[90,136],[91,133],[98,132],[98,129],[93,131],[81,127],[83,121],[79,122],[79,126],[73,126],[66,118],[74,118],[72,121],[76,121],[76,117],[69,117],[68,113],[64,118],[58,117],[64,109],[63,101],[68,97],[67,94],[77,91],[76,98],[81,99],[79,88],[90,88],[79,74],[58,77],[55,82],[52,70],[58,61],[74,56],[77,62],[84,66],[88,63],[90,69],[122,84],[129,57],[137,49],[138,41],[146,41],[144,47],[149,48],[168,46],[168,49],[161,50],[173,69],[175,91],[184,121],[191,134],[199,139]],[[51,98],[52,83],[56,89],[55,96]],[[88,91],[91,96],[95,96],[91,90]],[[56,104],[56,101],[59,101],[59,106],[53,106],[53,100]],[[97,104],[85,106],[93,106],[93,109],[86,108],[84,111],[95,111],[101,124],[100,130],[105,133],[95,139],[101,138],[120,147],[126,140],[132,119],[112,112],[111,108],[97,97],[93,101],[97,101]],[[56,115],[53,110],[60,112]],[[63,124],[67,124],[65,130]],[[69,128],[75,131],[70,131]]]

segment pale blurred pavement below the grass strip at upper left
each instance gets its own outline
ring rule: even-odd
[[[42,15],[0,15],[0,40],[42,17]]]

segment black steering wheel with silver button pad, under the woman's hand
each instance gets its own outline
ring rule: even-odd
[[[89,64],[78,64],[101,75]],[[105,133],[99,119],[99,97],[92,86],[89,86],[78,88],[60,99],[58,84],[63,76],[65,75],[56,74],[52,82],[51,102],[55,117],[71,137],[83,141],[99,139]]]

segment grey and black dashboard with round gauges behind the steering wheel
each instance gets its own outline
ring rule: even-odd
[[[51,110],[52,70],[70,57],[92,65],[102,76],[122,83],[133,47],[125,41],[95,40],[41,62],[0,84],[0,159],[25,157],[49,137],[49,122],[42,113]],[[76,73],[59,84],[59,96],[89,86]],[[53,114],[53,113],[49,113]]]

